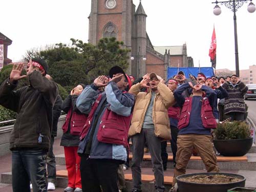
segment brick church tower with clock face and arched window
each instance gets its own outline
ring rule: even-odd
[[[116,37],[123,48],[132,49],[132,0],[92,0],[91,5],[88,42],[96,45],[103,37]]]

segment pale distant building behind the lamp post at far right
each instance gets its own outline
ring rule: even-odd
[[[217,76],[221,76],[219,74],[236,74],[236,71],[228,69],[218,69],[216,72]],[[245,84],[256,84],[256,65],[249,66],[249,69],[240,70],[240,80]]]

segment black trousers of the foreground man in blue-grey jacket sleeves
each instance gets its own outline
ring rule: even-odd
[[[83,192],[118,192],[117,169],[120,161],[81,157],[80,172]],[[101,187],[101,188],[100,188]]]

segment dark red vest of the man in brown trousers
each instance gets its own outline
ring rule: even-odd
[[[180,119],[178,122],[178,128],[182,129],[189,124],[190,114],[191,114],[191,106],[192,106],[193,97],[187,97],[182,106],[182,111],[180,115]],[[201,119],[203,126],[208,129],[216,129],[217,122],[212,113],[212,108],[210,106],[209,100],[207,97],[203,98],[202,108],[201,108]]]

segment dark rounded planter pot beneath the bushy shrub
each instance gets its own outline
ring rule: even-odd
[[[216,150],[223,156],[239,157],[248,153],[253,138],[248,139],[214,139]]]

